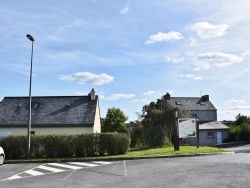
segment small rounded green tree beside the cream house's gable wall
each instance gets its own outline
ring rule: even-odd
[[[103,121],[102,132],[122,132],[128,131],[125,122],[128,117],[119,108],[109,108]]]

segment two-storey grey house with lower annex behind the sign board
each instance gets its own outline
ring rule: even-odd
[[[171,97],[166,94],[165,100],[173,107],[181,108],[186,112],[187,118],[199,118],[199,144],[222,144],[229,136],[229,127],[217,121],[217,109],[209,100],[209,95],[201,97]],[[184,144],[196,145],[195,137],[187,137],[182,140]]]

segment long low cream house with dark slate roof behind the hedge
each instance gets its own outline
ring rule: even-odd
[[[32,97],[31,134],[100,133],[99,99],[87,96]],[[29,97],[5,97],[0,102],[0,137],[27,135]]]

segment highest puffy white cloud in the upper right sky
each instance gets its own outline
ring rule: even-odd
[[[192,26],[192,30],[196,31],[201,39],[210,39],[222,37],[227,34],[228,25],[213,25],[208,22],[198,22]]]

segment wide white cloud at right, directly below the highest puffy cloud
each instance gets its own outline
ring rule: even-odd
[[[234,63],[240,63],[241,61],[243,61],[243,58],[234,54],[225,54],[221,52],[198,54],[195,58],[196,68],[193,70],[207,70],[210,67],[221,68],[230,66]]]

